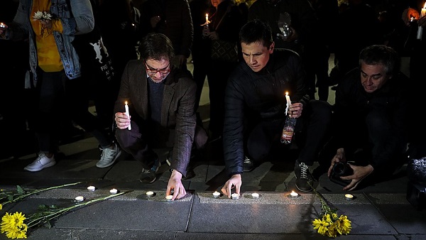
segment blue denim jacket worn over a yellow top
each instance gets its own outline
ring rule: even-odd
[[[50,14],[59,18],[62,22],[63,33],[53,31],[56,45],[65,74],[69,79],[80,77],[80,61],[78,55],[72,46],[72,40],[75,35],[89,33],[94,28],[94,16],[92,5],[89,0],[51,0]],[[70,6],[68,6],[70,3]],[[33,9],[33,0],[20,0],[18,11],[16,11],[13,22],[9,23],[5,38],[10,40],[25,40],[28,38],[30,45],[30,70],[33,73],[33,84],[35,86],[37,76],[37,48],[35,46],[35,33],[31,26],[31,10]]]

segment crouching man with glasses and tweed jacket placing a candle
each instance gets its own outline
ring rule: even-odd
[[[116,101],[116,139],[124,151],[142,163],[141,182],[154,182],[160,161],[153,148],[173,148],[172,174],[167,195],[186,195],[182,176],[187,174],[192,145],[201,148],[207,133],[196,126],[195,91],[190,72],[173,65],[175,51],[162,33],[141,41],[141,60],[128,62]],[[126,106],[129,110],[126,114]]]

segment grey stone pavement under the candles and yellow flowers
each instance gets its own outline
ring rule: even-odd
[[[327,239],[317,234],[312,220],[321,210],[312,192],[299,192],[290,198],[294,185],[294,160],[266,162],[251,173],[244,173],[239,200],[214,199],[212,192],[226,181],[224,163],[209,147],[195,164],[195,178],[185,180],[188,195],[175,202],[165,201],[170,177],[168,166],[160,168],[152,184],[138,181],[141,166],[123,154],[109,168],[97,168],[97,141],[86,136],[60,146],[65,156],[57,165],[30,173],[23,167],[34,154],[0,161],[0,188],[16,185],[24,188],[50,187],[82,181],[79,185],[42,192],[16,204],[7,204],[5,212],[35,212],[39,204],[67,207],[81,195],[85,201],[109,195],[111,188],[124,195],[69,212],[53,222],[53,228],[28,231],[28,239]],[[164,160],[167,153],[158,151]],[[312,170],[312,169],[311,169]],[[406,199],[408,179],[405,171],[397,178],[351,192],[348,201],[339,185],[322,175],[315,187],[352,222],[351,233],[339,239],[426,239],[425,209],[417,210]],[[94,185],[97,190],[87,191]],[[147,191],[155,196],[147,198]],[[258,192],[256,200],[252,192]],[[0,240],[6,239],[0,234]]]

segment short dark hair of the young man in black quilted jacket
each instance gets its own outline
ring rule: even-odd
[[[241,27],[240,43],[263,43],[267,48],[273,43],[271,26],[268,23],[254,19]]]

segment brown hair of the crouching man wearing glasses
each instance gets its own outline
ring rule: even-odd
[[[142,60],[162,60],[169,61],[175,58],[175,50],[173,43],[163,33],[150,33],[143,37],[141,45],[139,45]]]

